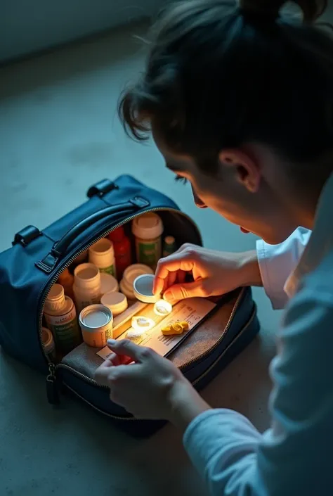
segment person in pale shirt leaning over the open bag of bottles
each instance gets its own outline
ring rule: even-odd
[[[119,107],[129,134],[151,132],[199,208],[262,239],[240,254],[185,245],[159,262],[155,291],[172,301],[263,284],[285,307],[263,434],[209,407],[148,348],[111,341],[96,372],[112,401],[183,430],[214,496],[333,494],[333,41],[315,24],[327,2],[297,4],[302,20],[282,0],[167,8]]]

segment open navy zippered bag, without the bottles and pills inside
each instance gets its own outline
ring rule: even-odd
[[[51,286],[75,258],[117,227],[143,212],[158,212],[165,232],[179,245],[202,246],[195,223],[162,193],[130,176],[105,179],[92,186],[86,201],[43,231],[27,226],[15,234],[13,246],[0,254],[0,344],[20,362],[46,376],[51,404],[59,401],[59,385],[107,415],[134,435],[148,435],[163,425],[133,418],[110,401],[108,389],[93,379],[102,359],[96,348],[82,343],[59,363],[44,351],[41,326]],[[235,357],[259,331],[250,288],[241,288],[218,301],[216,311],[190,333],[169,360],[200,390]]]

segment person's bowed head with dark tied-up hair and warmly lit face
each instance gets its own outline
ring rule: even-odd
[[[141,79],[119,104],[136,139],[207,206],[283,241],[311,224],[333,165],[333,41],[326,0],[185,0],[152,28]]]

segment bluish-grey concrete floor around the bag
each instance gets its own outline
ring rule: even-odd
[[[115,108],[119,91],[142,68],[140,45],[131,34],[143,29],[118,30],[1,69],[1,250],[15,231],[27,224],[45,227],[84,201],[89,185],[122,172],[174,198],[199,224],[207,247],[254,247],[254,236],[195,208],[190,189],[174,184],[152,144],[135,144],[124,135]],[[264,430],[267,369],[280,314],[263,290],[254,293],[261,336],[203,395]],[[1,496],[205,494],[174,428],[134,440],[70,398],[53,409],[45,378],[4,353],[0,422]]]

